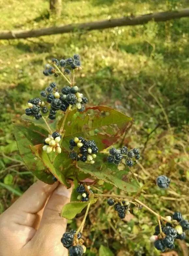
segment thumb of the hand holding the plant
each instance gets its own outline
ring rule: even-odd
[[[44,245],[45,248],[43,247],[42,255],[46,249],[48,251],[52,250],[53,255],[62,255],[61,253],[64,247],[60,240],[66,230],[67,220],[60,217],[59,214],[62,207],[70,202],[71,192],[72,188],[66,189],[64,185],[60,184],[45,206],[39,229],[30,241],[32,247],[38,247],[41,244]],[[41,254],[39,253],[39,255]]]

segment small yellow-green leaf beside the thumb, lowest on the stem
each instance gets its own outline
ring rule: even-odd
[[[72,201],[63,206],[61,211],[61,217],[66,219],[73,219],[78,213],[80,213],[88,204],[94,204],[97,201],[93,196],[90,197],[88,202]]]

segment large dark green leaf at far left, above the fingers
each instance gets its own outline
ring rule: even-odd
[[[43,162],[36,158],[30,149],[30,145],[34,146],[41,143],[45,136],[29,128],[16,126],[15,138],[17,141],[18,150],[28,169],[43,182],[48,184],[54,183],[52,180],[52,174],[46,172],[47,168],[44,166]]]

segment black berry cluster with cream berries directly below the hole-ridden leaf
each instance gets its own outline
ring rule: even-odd
[[[96,153],[98,152],[98,147],[94,140],[88,141],[83,137],[75,137],[69,141],[70,149],[70,158],[77,161],[95,163],[94,159],[96,158]],[[73,151],[74,147],[79,148],[79,152]]]

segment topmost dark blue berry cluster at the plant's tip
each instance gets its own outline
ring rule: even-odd
[[[55,67],[60,67],[64,69],[64,74],[65,75],[69,75],[70,74],[70,68],[72,70],[74,69],[81,69],[81,61],[80,61],[80,56],[79,54],[74,54],[73,57],[70,57],[68,59],[61,59],[61,60],[57,60],[57,59],[52,59],[52,65]],[[58,76],[56,69],[51,66],[50,64],[46,64],[45,65],[45,70],[43,71],[43,74],[45,76],[51,76],[54,74],[55,77]],[[69,68],[68,68],[69,67]]]

